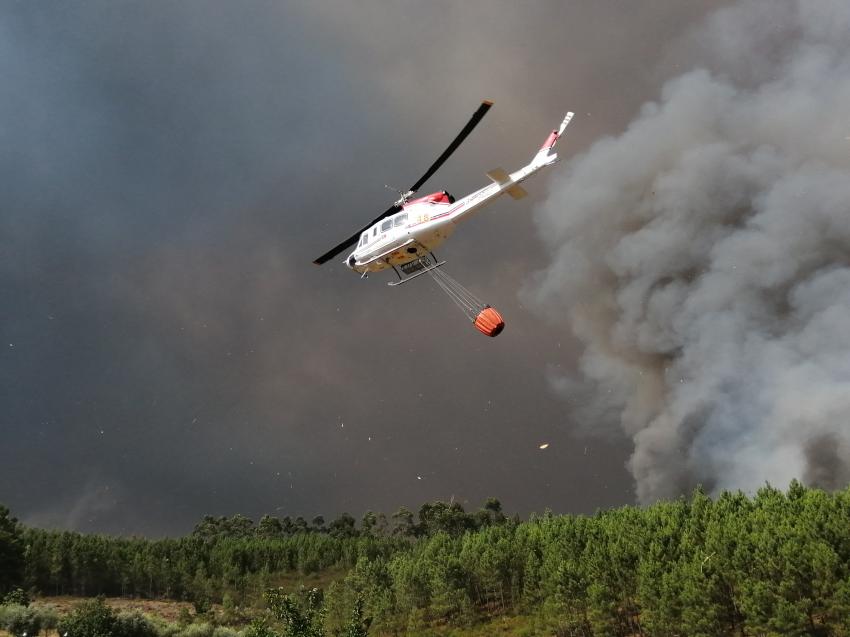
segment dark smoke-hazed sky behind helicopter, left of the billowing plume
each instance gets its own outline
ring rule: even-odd
[[[4,5],[0,501],[30,524],[154,535],[207,513],[632,502],[631,437],[593,427],[592,392],[553,389],[587,343],[519,294],[553,250],[533,211],[576,168],[440,254],[503,312],[497,339],[430,281],[311,261],[482,99],[425,190],[519,167],[567,110],[559,153],[593,153],[716,49],[689,34],[721,3],[684,4]]]

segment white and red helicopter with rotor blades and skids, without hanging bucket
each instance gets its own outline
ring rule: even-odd
[[[561,125],[549,133],[531,162],[519,170],[507,173],[502,168],[494,168],[487,172],[493,183],[461,199],[456,199],[445,190],[413,199],[419,188],[457,150],[492,105],[493,102],[489,100],[481,103],[443,154],[406,192],[399,192],[400,198],[393,205],[313,263],[322,265],[356,244],[354,251],[344,260],[346,266],[360,273],[361,278],[366,278],[371,272],[392,268],[398,280],[390,281],[388,285],[401,285],[445,265],[445,261],[437,259],[434,250],[454,233],[458,223],[505,193],[514,199],[525,197],[528,193],[520,183],[558,161],[558,155],[552,149],[573,118],[572,112],[568,112]]]

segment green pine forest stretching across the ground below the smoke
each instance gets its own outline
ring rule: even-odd
[[[263,610],[268,601],[312,575],[321,585],[287,599],[303,610],[310,589],[321,589],[328,634],[350,626],[362,605],[370,634],[502,626],[564,636],[842,636],[850,489],[795,482],[785,493],[715,499],[697,490],[527,521],[506,517],[497,500],[474,513],[445,502],[417,516],[367,513],[359,524],[348,515],[327,525],[207,517],[190,535],[161,540],[23,528],[0,509],[0,564],[9,565],[0,591],[188,600],[201,614],[216,603],[233,624],[265,617],[270,631],[287,624]],[[278,586],[277,597],[264,596]]]

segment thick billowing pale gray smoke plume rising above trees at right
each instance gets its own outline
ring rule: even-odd
[[[691,70],[537,214],[551,259],[523,297],[586,348],[554,382],[632,438],[642,502],[844,485],[850,4],[740,2],[679,49]]]

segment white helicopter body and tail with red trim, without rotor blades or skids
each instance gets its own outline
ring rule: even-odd
[[[461,221],[507,193],[520,199],[527,193],[519,185],[538,171],[558,161],[552,147],[572,118],[568,113],[559,130],[552,131],[531,163],[513,173],[501,168],[487,176],[493,183],[454,200],[445,191],[407,201],[402,210],[365,230],[345,264],[361,274],[378,272],[417,261],[436,250],[448,239]]]

